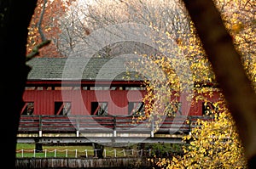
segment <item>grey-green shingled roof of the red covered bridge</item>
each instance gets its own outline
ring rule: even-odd
[[[117,80],[125,81],[129,61],[138,58],[34,58],[28,80]],[[130,80],[142,77],[130,72]]]

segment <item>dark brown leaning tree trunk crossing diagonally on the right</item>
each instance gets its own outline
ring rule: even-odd
[[[241,56],[212,0],[183,2],[195,23],[231,115],[236,121],[249,166],[256,168],[253,161],[256,155],[256,93],[241,65]]]

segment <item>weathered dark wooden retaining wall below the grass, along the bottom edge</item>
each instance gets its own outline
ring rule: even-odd
[[[104,159],[70,159],[70,158],[18,158],[15,163],[16,169],[36,168],[152,168],[152,163],[146,158],[104,158]]]

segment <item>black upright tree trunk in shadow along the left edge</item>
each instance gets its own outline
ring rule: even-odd
[[[27,27],[36,4],[36,0],[0,0],[1,160],[7,168],[15,168],[16,133],[30,70],[25,63]]]

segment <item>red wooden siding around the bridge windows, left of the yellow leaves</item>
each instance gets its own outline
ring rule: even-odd
[[[55,115],[55,102],[70,102],[72,115],[90,115],[91,102],[108,102],[110,115],[128,115],[128,102],[141,102],[143,91],[26,90],[24,102],[34,102],[33,115]]]

